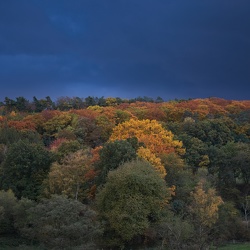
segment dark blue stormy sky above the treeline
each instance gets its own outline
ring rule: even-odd
[[[1,0],[5,96],[249,99],[249,0]]]

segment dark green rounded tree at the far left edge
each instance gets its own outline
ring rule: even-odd
[[[2,188],[12,189],[19,199],[36,199],[51,162],[51,154],[41,145],[21,140],[13,143],[2,164]]]

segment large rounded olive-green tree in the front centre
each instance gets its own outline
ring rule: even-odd
[[[111,171],[96,198],[107,244],[119,246],[143,235],[161,218],[169,198],[165,181],[146,161],[127,162]]]

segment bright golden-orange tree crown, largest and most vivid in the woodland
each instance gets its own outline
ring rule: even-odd
[[[161,162],[161,156],[185,152],[182,142],[174,140],[171,131],[165,130],[156,120],[130,119],[118,124],[110,136],[110,141],[125,140],[136,137],[144,147],[139,147],[137,155],[150,162],[162,178],[166,176],[166,170]]]

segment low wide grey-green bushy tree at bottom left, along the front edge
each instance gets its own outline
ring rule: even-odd
[[[21,232],[47,249],[89,249],[101,235],[96,213],[65,196],[52,196],[31,207]]]

